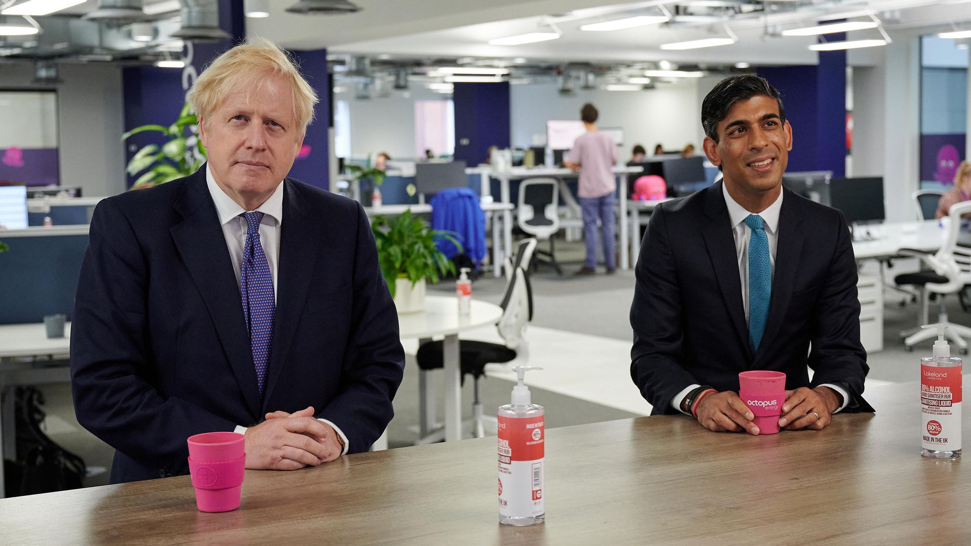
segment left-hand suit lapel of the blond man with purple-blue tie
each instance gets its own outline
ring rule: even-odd
[[[174,206],[183,221],[169,229],[172,240],[209,310],[240,391],[256,416],[260,403],[250,334],[216,205],[206,187],[205,167],[185,181]]]

